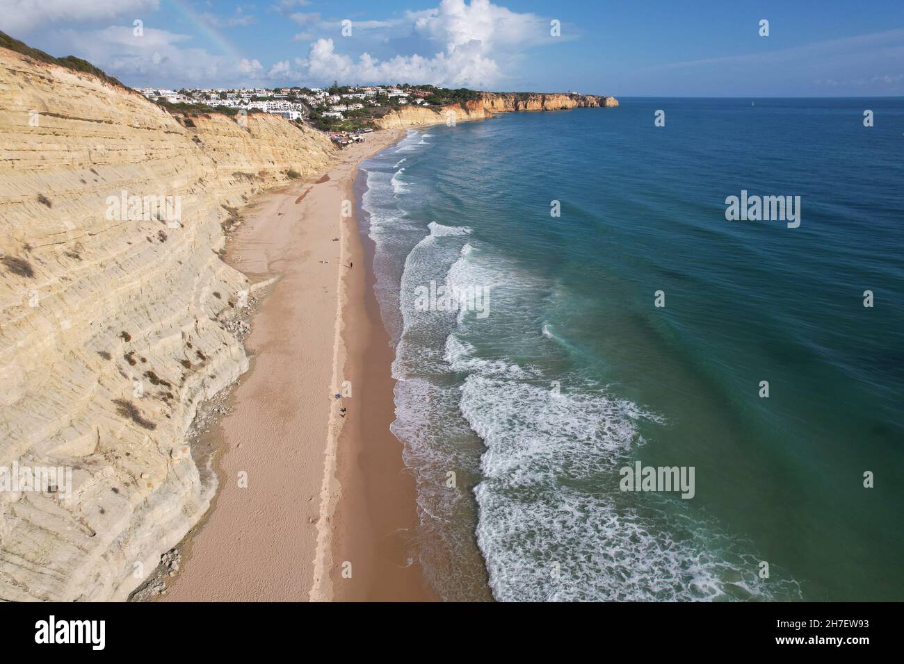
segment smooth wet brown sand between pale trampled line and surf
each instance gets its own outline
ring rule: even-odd
[[[334,600],[436,601],[415,551],[417,487],[402,458],[402,444],[390,431],[395,353],[374,291],[375,245],[361,208],[366,189],[366,182],[356,183],[357,228],[349,242],[364,269],[350,276],[344,317],[344,373],[356,391],[339,439],[343,452],[337,477],[344,491],[334,512]]]

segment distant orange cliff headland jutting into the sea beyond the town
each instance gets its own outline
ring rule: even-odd
[[[393,110],[376,121],[385,129],[406,126],[426,126],[447,123],[450,117],[456,122],[480,120],[493,117],[497,113],[513,111],[563,110],[566,108],[611,108],[618,106],[614,97],[596,95],[485,92],[483,98],[466,101],[463,104],[448,104],[442,107],[406,106]]]

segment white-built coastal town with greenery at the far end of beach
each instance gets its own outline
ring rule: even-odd
[[[375,128],[373,120],[404,106],[435,107],[479,93],[470,89],[434,86],[340,86],[330,88],[136,88],[146,98],[176,111],[218,111],[228,115],[270,113],[307,123],[327,133],[335,143],[363,140]]]

